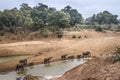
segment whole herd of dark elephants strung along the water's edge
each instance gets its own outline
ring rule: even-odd
[[[77,59],[80,59],[80,58],[87,58],[87,57],[90,57],[91,56],[91,53],[89,51],[86,51],[86,52],[83,52],[82,55],[77,55],[77,56],[74,56],[74,55],[68,55],[68,54],[64,54],[64,55],[61,55],[61,60],[66,60],[66,59],[74,59],[75,57]],[[44,58],[44,61],[43,63],[44,64],[49,64],[50,63],[50,60],[52,59],[53,57],[48,57],[48,58]],[[16,65],[16,71],[19,72],[19,71],[24,71],[24,67],[25,66],[33,66],[34,65],[34,62],[31,62],[31,63],[28,63],[27,62],[27,59],[23,59],[23,60],[19,60],[19,64]]]

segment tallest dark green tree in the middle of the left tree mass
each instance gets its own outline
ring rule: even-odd
[[[51,8],[50,8],[51,9]],[[49,8],[47,5],[38,3],[38,6],[34,7],[31,11],[31,17],[34,22],[34,29],[44,28],[47,23],[47,15],[49,14]]]

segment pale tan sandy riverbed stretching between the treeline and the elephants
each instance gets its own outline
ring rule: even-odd
[[[72,36],[82,38],[73,39]],[[84,36],[87,36],[85,38]],[[53,57],[52,61],[60,60],[63,54],[77,55],[84,51],[90,51],[94,56],[113,53],[116,47],[120,46],[120,33],[107,31],[106,33],[95,32],[93,30],[82,30],[80,32],[65,32],[62,39],[41,39],[37,41],[25,41],[7,43],[0,45],[0,56],[27,55],[34,54],[29,58],[29,62],[35,64],[42,63],[44,58]],[[15,69],[19,61],[9,61],[0,63],[0,71]]]

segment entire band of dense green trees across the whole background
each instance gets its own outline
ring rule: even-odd
[[[61,10],[56,10],[56,8],[48,7],[42,3],[38,3],[35,7],[23,3],[20,5],[20,9],[0,11],[0,34],[2,35],[3,32],[16,33],[20,29],[59,31],[60,28],[83,24],[92,26],[118,24],[120,20],[117,17],[117,15],[104,11],[84,20],[82,15],[69,5]],[[100,30],[100,27],[97,29]]]

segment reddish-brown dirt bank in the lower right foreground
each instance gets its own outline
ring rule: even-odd
[[[120,62],[113,64],[110,57],[96,58],[52,80],[120,80]]]

